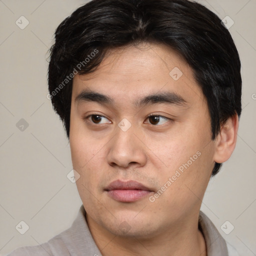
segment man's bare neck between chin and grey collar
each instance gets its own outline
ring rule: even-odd
[[[180,219],[150,238],[116,236],[86,215],[92,237],[103,256],[206,256],[206,246],[198,229],[198,214]],[[192,219],[192,220],[191,220]]]

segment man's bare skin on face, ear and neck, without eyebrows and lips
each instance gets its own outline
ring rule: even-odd
[[[176,81],[169,75],[174,67],[183,73]],[[83,90],[107,95],[114,103],[77,100]],[[186,103],[133,104],[157,92],[175,92]],[[101,118],[95,123],[90,114]],[[149,114],[169,119],[153,122]],[[123,118],[131,124],[126,131],[118,126]],[[206,255],[198,230],[201,200],[214,162],[231,155],[237,129],[234,115],[211,140],[207,102],[193,72],[165,45],[114,49],[94,72],[75,75],[71,157],[87,223],[102,255]],[[200,156],[151,202],[149,196],[198,151]],[[116,179],[136,180],[153,192],[134,202],[116,201],[104,190]]]

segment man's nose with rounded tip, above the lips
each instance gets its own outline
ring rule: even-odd
[[[145,144],[132,125],[123,131],[116,126],[116,135],[110,140],[107,162],[111,166],[139,167],[146,163]]]

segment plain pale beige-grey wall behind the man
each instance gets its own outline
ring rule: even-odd
[[[75,183],[66,177],[72,169],[68,140],[46,98],[46,59],[57,25],[85,2],[0,0],[1,255],[67,229],[82,204]],[[234,21],[229,31],[243,80],[236,149],[211,179],[201,209],[240,255],[256,255],[256,0],[198,2]],[[15,23],[21,15],[29,21],[24,29]],[[16,126],[21,118],[28,124],[23,131]],[[23,235],[15,229],[21,220],[29,226]],[[220,228],[226,220],[234,226],[229,234]]]

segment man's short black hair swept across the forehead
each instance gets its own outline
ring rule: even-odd
[[[228,117],[240,116],[240,59],[216,14],[189,0],[92,0],[59,24],[50,48],[47,97],[68,138],[73,74],[95,70],[109,49],[141,42],[168,45],[192,68],[207,100],[212,139]]]

